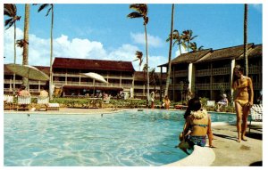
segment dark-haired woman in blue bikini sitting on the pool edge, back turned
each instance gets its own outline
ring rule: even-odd
[[[190,115],[186,118],[183,127],[181,142],[178,147],[187,152],[187,149],[194,145],[205,147],[206,136],[208,136],[209,147],[213,148],[213,132],[211,128],[211,117],[205,109],[201,108],[201,102],[198,98],[190,99],[188,102]]]

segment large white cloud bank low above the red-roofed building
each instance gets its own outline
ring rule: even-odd
[[[17,39],[22,39],[23,32],[17,28]],[[136,51],[140,51],[135,45],[121,45],[113,50],[105,50],[101,42],[90,41],[88,39],[73,38],[62,35],[54,37],[54,57],[80,58],[80,59],[97,59],[112,61],[133,61],[135,70],[139,70],[136,59]],[[4,31],[4,63],[13,63],[13,29]],[[149,56],[150,68],[157,68],[167,61],[163,56]],[[22,63],[22,49],[17,47],[17,62]],[[36,35],[29,34],[29,65],[49,66],[50,63],[50,38],[40,38]],[[146,63],[146,54],[140,69]]]

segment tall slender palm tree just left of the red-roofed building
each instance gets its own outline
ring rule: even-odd
[[[53,61],[53,26],[54,26],[54,4],[41,4],[38,8],[38,12],[41,12],[45,8],[48,8],[46,16],[51,12],[51,28],[50,28],[50,65],[49,65],[49,99],[52,100],[52,61]]]

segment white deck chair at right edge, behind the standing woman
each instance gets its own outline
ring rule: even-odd
[[[251,129],[251,122],[262,122],[263,121],[263,105],[262,104],[254,104],[250,109],[250,116],[249,116],[249,130],[248,133],[250,134]]]

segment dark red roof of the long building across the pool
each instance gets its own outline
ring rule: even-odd
[[[135,71],[131,61],[105,61],[59,57],[56,57],[54,59],[53,68],[96,69],[131,72]]]

